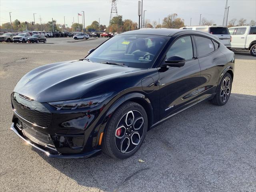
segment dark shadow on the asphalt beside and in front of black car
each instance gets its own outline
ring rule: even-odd
[[[231,94],[224,106],[201,102],[148,131],[140,150],[126,160],[103,153],[89,159],[38,153],[84,191],[250,191],[255,114],[256,96]]]

